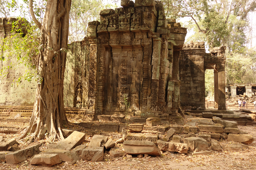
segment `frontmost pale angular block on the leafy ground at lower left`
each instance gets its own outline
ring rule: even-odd
[[[41,153],[33,156],[30,159],[31,165],[43,165],[43,166],[54,166],[61,163],[60,157],[58,154],[50,153]]]

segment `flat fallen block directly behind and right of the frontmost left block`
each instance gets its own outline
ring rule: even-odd
[[[46,149],[45,153],[58,154],[60,159],[64,162],[68,162],[68,164],[74,164],[77,160],[79,160],[79,156],[76,152],[70,152],[63,149]]]

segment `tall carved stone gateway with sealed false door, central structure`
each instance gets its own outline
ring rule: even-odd
[[[84,41],[69,46],[66,69],[74,70],[64,103],[90,116],[127,111],[182,123],[178,63],[187,29],[165,18],[160,1],[122,0],[121,6],[101,11],[100,22],[88,23]]]

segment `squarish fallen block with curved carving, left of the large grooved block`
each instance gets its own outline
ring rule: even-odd
[[[85,148],[81,154],[81,159],[92,161],[103,161],[104,147]]]

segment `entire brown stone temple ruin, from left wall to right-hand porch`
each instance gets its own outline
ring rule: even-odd
[[[225,47],[208,54],[204,42],[184,44],[187,29],[165,17],[160,1],[121,0],[121,6],[102,10],[100,22],[88,23],[84,40],[68,45],[67,113],[79,112],[86,120],[129,115],[182,124],[179,107],[205,109],[206,69],[214,69],[215,107],[226,110]],[[1,18],[1,37],[10,34],[13,19]],[[0,66],[8,62],[15,61]],[[0,105],[33,106],[35,81],[11,85],[25,69],[8,70],[7,79],[1,78]]]

